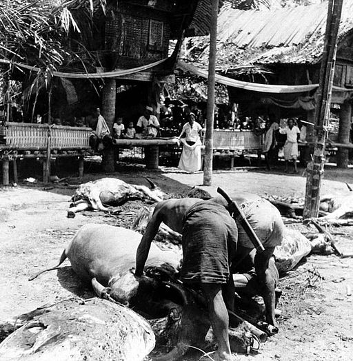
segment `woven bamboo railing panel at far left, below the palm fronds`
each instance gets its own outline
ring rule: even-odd
[[[51,149],[89,149],[90,128],[52,125]],[[6,123],[6,147],[46,149],[48,124]]]

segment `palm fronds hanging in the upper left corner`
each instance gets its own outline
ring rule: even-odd
[[[0,0],[0,59],[62,65],[69,30],[80,32],[77,16],[93,14],[97,3],[105,10],[105,0]]]

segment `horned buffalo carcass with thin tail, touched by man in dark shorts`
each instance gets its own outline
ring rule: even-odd
[[[82,280],[90,281],[100,297],[133,305],[149,318],[163,318],[151,321],[152,329],[157,341],[174,348],[160,360],[177,360],[189,345],[205,342],[210,328],[208,311],[198,293],[171,282],[181,253],[162,251],[152,244],[145,267],[148,276],[134,276],[131,269],[140,240],[141,234],[130,229],[85,225],[63,251],[59,264],[51,269],[68,257],[74,271]],[[253,340],[248,329],[231,329],[230,339],[234,351],[246,351]]]

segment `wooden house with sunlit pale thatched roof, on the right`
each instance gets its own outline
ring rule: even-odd
[[[225,2],[219,14],[216,67],[219,74],[257,84],[288,85],[283,93],[270,87],[228,87],[230,101],[243,114],[272,112],[277,117],[300,116],[313,123],[315,90],[300,91],[299,85],[317,85],[327,18],[327,1],[312,6],[277,10],[237,10]],[[185,40],[192,48],[184,56],[200,67],[207,64],[208,37]],[[242,70],[239,72],[239,70]],[[261,71],[259,71],[261,70]],[[239,74],[240,73],[240,74]],[[275,88],[275,87],[274,87]],[[310,89],[310,87],[307,87]],[[343,1],[334,73],[332,112],[339,117],[337,143],[349,143],[353,94],[353,1]],[[308,127],[307,141],[313,129]],[[350,145],[347,145],[349,147]],[[339,165],[347,166],[347,147],[339,148]],[[341,159],[341,160],[340,160]]]

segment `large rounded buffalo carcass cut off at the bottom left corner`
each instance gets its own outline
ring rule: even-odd
[[[121,305],[71,298],[19,316],[0,344],[0,360],[144,360],[154,349],[150,324]]]

